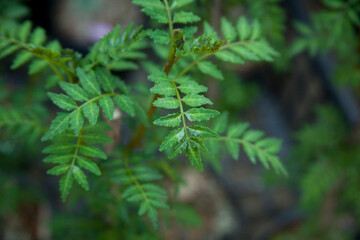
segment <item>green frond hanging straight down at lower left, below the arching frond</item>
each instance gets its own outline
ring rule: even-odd
[[[50,175],[61,175],[60,192],[63,201],[66,200],[70,189],[75,181],[86,191],[89,190],[89,183],[83,170],[87,170],[97,176],[101,170],[93,158],[106,159],[106,154],[94,144],[112,142],[112,139],[97,128],[84,127],[77,136],[67,131],[56,138],[53,143],[43,150],[43,153],[50,154],[43,161],[55,164],[47,171]]]

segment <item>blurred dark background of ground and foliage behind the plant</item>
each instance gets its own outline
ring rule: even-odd
[[[115,24],[156,27],[131,0],[28,0],[24,5],[1,0],[0,6],[9,2],[13,6],[0,9],[0,21],[11,14],[30,19],[81,53]],[[245,154],[238,161],[224,155],[203,173],[184,167],[182,205],[172,213],[179,222],[163,223],[158,237],[360,239],[359,1],[195,0],[191,8],[218,31],[222,16],[232,22],[243,15],[259,19],[280,53],[272,63],[223,64],[226,80],[209,78],[207,85],[216,109],[282,139],[280,157],[289,177],[252,164]],[[156,51],[146,51],[149,60],[163,64]],[[19,89],[31,89],[36,77],[27,80],[27,69],[14,72],[10,65],[11,57],[0,62],[1,104],[9,104],[3,99],[14,94],[19,98],[12,104],[21,105],[28,91]],[[121,78],[136,83],[146,81],[146,74],[133,69]],[[46,98],[41,92],[34,96]],[[0,116],[0,239],[75,239],[70,236],[77,236],[78,228],[96,229],[75,221],[81,202],[60,202],[57,180],[46,175],[39,147],[14,139],[4,126]]]

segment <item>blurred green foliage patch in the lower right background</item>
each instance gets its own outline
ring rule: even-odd
[[[333,236],[353,239],[355,236],[354,232],[336,224],[336,219],[344,214],[359,224],[359,193],[355,190],[359,188],[359,176],[355,169],[359,166],[360,152],[356,143],[348,143],[348,134],[344,119],[334,106],[318,107],[316,120],[296,132],[297,144],[288,171],[293,183],[301,189],[299,203],[307,213],[299,229],[290,234],[297,239]],[[327,203],[333,201],[337,204],[326,208]],[[332,217],[325,220],[321,217],[325,212]],[[287,237],[285,234],[279,239]]]

